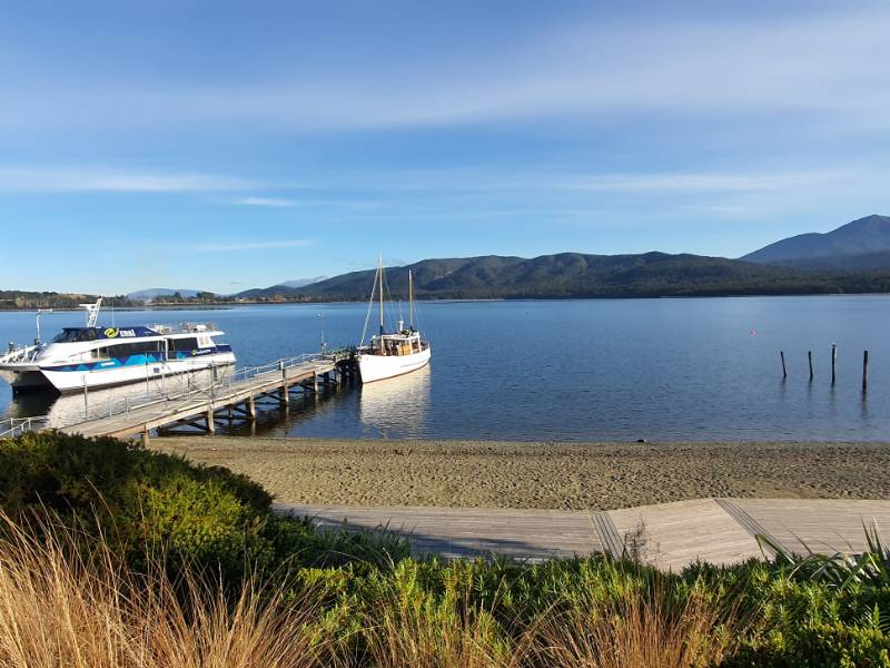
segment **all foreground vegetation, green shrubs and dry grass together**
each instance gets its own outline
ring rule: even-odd
[[[58,433],[0,441],[0,507],[3,666],[126,666],[135,648],[220,668],[890,668],[877,537],[853,559],[681,573],[604,556],[414,559],[394,533],[276,514],[225,469]],[[41,654],[57,660],[28,660]]]

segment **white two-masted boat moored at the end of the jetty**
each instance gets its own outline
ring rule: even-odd
[[[399,320],[395,332],[386,332],[384,321],[384,269],[383,257],[377,264],[377,274],[374,277],[374,287],[368,303],[368,317],[374,305],[375,292],[379,291],[380,333],[372,336],[370,343],[365,345],[365,335],[362,335],[362,345],[358,347],[358,372],[363,383],[373,383],[394,376],[403,375],[423,369],[429,364],[431,348],[426,341],[414,326],[414,279],[408,271],[408,326]]]

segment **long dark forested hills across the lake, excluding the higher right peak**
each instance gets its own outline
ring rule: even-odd
[[[867,276],[814,273],[700,255],[583,255],[531,259],[496,255],[425,259],[386,269],[387,292],[406,298],[408,269],[418,298],[568,298],[751,294],[831,294],[890,291],[890,271]],[[374,269],[353,272],[299,288],[253,292],[253,298],[366,299]]]

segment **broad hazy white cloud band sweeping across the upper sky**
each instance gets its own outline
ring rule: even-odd
[[[883,3],[815,7],[785,18],[580,20],[506,45],[506,52],[467,43],[447,61],[388,53],[366,69],[307,66],[299,75],[241,73],[212,84],[142,77],[135,87],[91,71],[76,71],[66,82],[47,66],[37,72],[42,76],[20,77],[27,87],[17,88],[14,79],[0,85],[0,124],[339,129],[631,110],[804,114],[887,127],[889,22]]]

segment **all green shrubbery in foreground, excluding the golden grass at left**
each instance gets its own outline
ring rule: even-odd
[[[236,596],[261,582],[269,598],[314,606],[313,633],[335,638],[332,651],[355,665],[388,651],[429,665],[514,657],[511,665],[538,666],[567,656],[601,665],[591,652],[615,650],[610,638],[630,642],[636,628],[649,632],[650,649],[668,638],[679,650],[678,638],[689,637],[726,668],[890,668],[890,554],[877,538],[854,560],[780,556],[681,573],[601,554],[418,560],[396,533],[322,529],[274,513],[270,502],[243,475],[112,439],[50,432],[0,441],[0,507],[10,518],[27,523],[49,511],[137,571],[160,554],[174,573],[206,570]],[[516,658],[535,642],[546,651]],[[560,642],[571,652],[557,651]],[[436,664],[438,652],[454,662]]]

